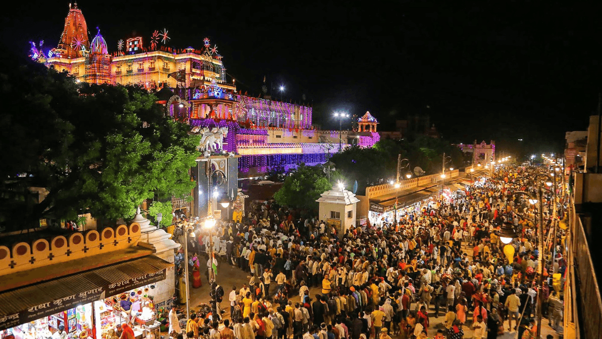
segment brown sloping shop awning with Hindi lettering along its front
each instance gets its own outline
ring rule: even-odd
[[[164,280],[172,266],[149,255],[0,293],[0,331]]]

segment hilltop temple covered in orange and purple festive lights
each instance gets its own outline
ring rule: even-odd
[[[89,37],[81,9],[69,5],[57,48],[45,52],[42,43],[31,43],[31,57],[78,81],[140,84],[156,93],[174,119],[191,128],[228,127],[224,149],[240,154],[240,178],[260,176],[270,168],[324,163],[327,154],[338,151],[339,131],[312,127],[312,107],[238,92],[208,38],[202,48],[170,48],[169,31],[163,29],[148,39],[121,39],[110,52],[100,29]],[[179,101],[173,100],[175,95]],[[379,140],[376,122],[370,113],[359,118],[360,128],[342,132],[342,147],[371,147]]]

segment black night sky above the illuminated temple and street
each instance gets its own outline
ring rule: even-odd
[[[553,150],[585,130],[601,90],[600,7],[559,1],[80,1],[90,39],[117,40],[167,28],[168,46],[217,44],[238,89],[332,112],[395,119],[429,114],[445,139],[495,139],[498,150]],[[51,5],[51,3],[54,3]],[[26,54],[29,40],[56,46],[69,2],[11,2],[2,42]],[[177,5],[176,5],[177,4]],[[6,65],[3,65],[6,66]],[[427,106],[429,108],[427,108]],[[349,126],[349,125],[348,125]],[[524,142],[518,142],[523,138]],[[550,142],[554,144],[550,144]],[[549,147],[547,145],[550,145]]]

